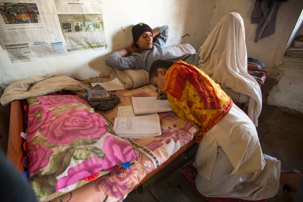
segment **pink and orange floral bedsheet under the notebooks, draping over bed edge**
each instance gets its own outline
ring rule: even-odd
[[[115,92],[121,99],[115,109],[101,113],[109,124],[113,124],[119,106],[130,106],[133,96],[156,96],[155,87],[143,86],[132,90]],[[59,201],[122,201],[133,188],[151,171],[167,161],[181,146],[194,136],[196,128],[180,119],[175,113],[159,114],[162,135],[145,139],[126,139],[139,157],[139,163],[128,169],[120,168],[80,188],[66,193],[52,202]]]

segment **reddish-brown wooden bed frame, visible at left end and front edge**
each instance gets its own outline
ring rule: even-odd
[[[24,167],[22,165],[22,158],[24,156],[22,150],[23,139],[21,137],[21,132],[24,132],[23,129],[23,110],[21,109],[21,104],[19,100],[13,100],[11,102],[11,119],[10,119],[10,130],[9,130],[9,141],[8,141],[8,159],[15,165],[17,170],[20,173],[24,172]],[[164,168],[171,161],[180,156],[184,151],[189,149],[195,144],[195,139],[193,138],[190,142],[183,145],[175,154],[173,154],[166,162],[161,164],[157,169],[148,173],[135,188],[149,179],[151,176],[155,175],[162,168]]]

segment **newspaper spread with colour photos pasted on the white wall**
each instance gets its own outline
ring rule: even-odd
[[[105,49],[101,2],[0,0],[1,45],[12,62]]]

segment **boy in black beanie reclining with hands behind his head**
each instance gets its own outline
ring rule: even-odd
[[[136,24],[132,28],[133,43],[111,54],[105,60],[105,64],[115,69],[143,69],[147,72],[156,60],[172,62],[183,60],[198,66],[198,54],[178,57],[163,47],[168,39],[168,30],[167,25],[153,30],[147,24]]]

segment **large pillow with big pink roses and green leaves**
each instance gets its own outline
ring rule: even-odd
[[[114,135],[85,99],[48,95],[28,98],[28,103],[29,181],[40,201],[136,161],[129,143]]]

